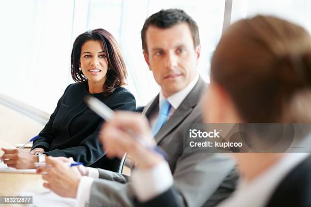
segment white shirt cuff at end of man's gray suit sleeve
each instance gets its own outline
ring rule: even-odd
[[[98,169],[96,170],[98,171]],[[81,178],[79,186],[78,186],[76,207],[88,206],[90,190],[91,190],[93,181],[94,181],[94,178],[90,178],[86,176],[83,176]]]

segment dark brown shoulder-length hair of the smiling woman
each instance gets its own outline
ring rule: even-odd
[[[106,51],[108,68],[110,68],[110,70],[108,70],[106,74],[103,93],[107,96],[117,87],[126,83],[127,69],[119,45],[112,34],[105,29],[89,30],[76,38],[71,52],[71,76],[77,83],[87,82],[86,77],[79,71],[79,62],[82,45],[90,40],[100,40]]]

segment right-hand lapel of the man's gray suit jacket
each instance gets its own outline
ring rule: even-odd
[[[201,79],[195,87],[190,91],[190,93],[184,98],[180,103],[179,107],[176,109],[174,114],[170,119],[163,125],[160,131],[155,135],[154,139],[159,144],[164,137],[170,133],[175,127],[177,127],[193,110],[201,99],[207,84]],[[158,95],[159,104],[159,95]],[[154,106],[154,105],[153,105]]]

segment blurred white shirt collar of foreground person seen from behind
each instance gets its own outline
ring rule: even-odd
[[[241,181],[232,196],[219,207],[262,207],[284,177],[310,153],[287,153],[281,160],[250,182]]]

